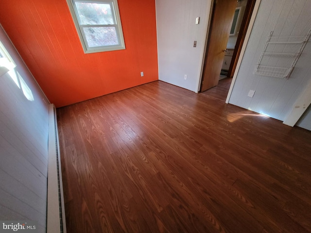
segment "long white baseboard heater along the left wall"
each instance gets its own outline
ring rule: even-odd
[[[47,233],[67,233],[56,108],[49,105]]]

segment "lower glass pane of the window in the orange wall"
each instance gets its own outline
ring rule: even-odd
[[[119,45],[115,27],[84,27],[88,47]]]

